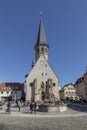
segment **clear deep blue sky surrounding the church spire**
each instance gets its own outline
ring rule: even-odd
[[[24,82],[31,71],[40,11],[60,86],[85,73],[87,0],[0,0],[0,82]]]

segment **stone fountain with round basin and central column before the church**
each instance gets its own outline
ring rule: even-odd
[[[47,81],[46,91],[42,92],[43,102],[38,105],[38,109],[41,112],[63,112],[67,110],[67,105],[55,97],[53,93],[52,80]]]

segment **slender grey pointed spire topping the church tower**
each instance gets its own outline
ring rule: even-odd
[[[38,36],[37,36],[37,42],[36,44],[46,44],[46,36],[44,32],[43,22],[42,22],[42,12],[40,12],[40,24],[39,24],[39,30],[38,30]]]

